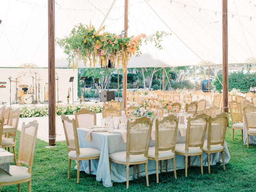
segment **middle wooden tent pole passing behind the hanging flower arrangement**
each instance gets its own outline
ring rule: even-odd
[[[128,0],[124,0],[124,37],[127,37],[128,32]],[[127,65],[128,63],[125,63],[123,67],[123,77],[122,77],[122,109],[124,110],[127,105]]]

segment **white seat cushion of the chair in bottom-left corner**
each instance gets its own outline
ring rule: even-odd
[[[10,166],[9,175],[4,170],[0,169],[0,183],[1,182],[9,182],[14,180],[25,180],[31,178],[31,174],[28,171],[28,168],[22,166],[12,165]]]

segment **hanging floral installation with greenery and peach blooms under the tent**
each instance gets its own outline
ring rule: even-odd
[[[69,64],[75,67],[74,60],[84,60],[85,65],[95,67],[95,63],[101,63],[102,67],[117,61],[118,66],[128,63],[132,54],[137,57],[141,54],[140,46],[144,42],[154,42],[158,49],[161,49],[160,41],[163,36],[171,35],[165,32],[157,32],[146,37],[145,34],[131,37],[121,37],[108,32],[103,32],[105,26],[98,31],[93,25],[79,24],[75,26],[71,35],[67,38],[57,38],[57,44],[64,49],[68,55]]]

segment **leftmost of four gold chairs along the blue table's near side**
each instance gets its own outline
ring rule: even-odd
[[[150,120],[150,118],[147,118],[145,116],[137,118],[134,122],[128,121],[126,151],[115,152],[109,155],[110,163],[112,161],[118,164],[126,165],[126,189],[129,188],[130,165],[134,165],[135,178],[135,165],[145,164],[146,186],[149,186],[147,172],[147,154],[151,130],[152,121]]]

